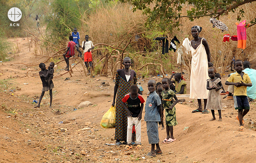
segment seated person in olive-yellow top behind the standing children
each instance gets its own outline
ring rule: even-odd
[[[174,76],[174,80],[171,80],[172,76]],[[176,94],[186,94],[187,93],[187,83],[181,79],[181,74],[176,73],[172,76],[170,78],[170,80],[171,80],[170,83],[175,84],[175,89],[171,88],[171,87],[170,87],[170,89],[172,91],[174,91]]]

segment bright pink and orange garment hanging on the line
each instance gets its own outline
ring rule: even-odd
[[[246,20],[240,22],[237,25],[237,48],[245,49],[246,47]]]

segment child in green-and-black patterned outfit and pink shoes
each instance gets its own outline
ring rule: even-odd
[[[174,142],[176,139],[173,137],[173,126],[177,125],[176,119],[176,109],[175,105],[178,103],[178,98],[176,97],[174,91],[169,88],[170,80],[169,78],[163,78],[162,85],[164,91],[162,91],[161,96],[163,97],[163,109],[165,109],[165,122],[166,122],[166,138],[162,144],[168,144]],[[175,99],[175,102],[172,102],[172,98]],[[171,133],[171,135],[170,135]]]

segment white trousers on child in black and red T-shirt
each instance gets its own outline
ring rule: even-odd
[[[128,144],[132,141],[132,127],[136,130],[136,144],[140,144],[141,141],[141,121],[138,117],[127,117],[127,142]]]

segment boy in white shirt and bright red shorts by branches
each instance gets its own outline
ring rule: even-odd
[[[92,52],[91,52],[91,49],[94,49],[94,46],[92,44],[92,41],[89,41],[89,36],[88,35],[85,35],[85,41],[82,42],[82,48],[84,49],[84,63],[85,63],[85,66],[86,68],[88,69],[88,75],[91,75],[91,68],[92,68]],[[88,62],[90,64],[90,67],[89,68],[89,65],[88,65]]]

